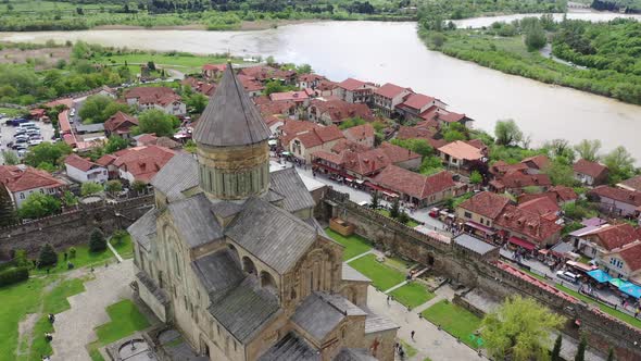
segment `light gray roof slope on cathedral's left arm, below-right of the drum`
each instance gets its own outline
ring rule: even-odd
[[[204,194],[169,203],[167,211],[189,248],[202,246],[224,236],[223,227],[212,213],[212,203]]]

